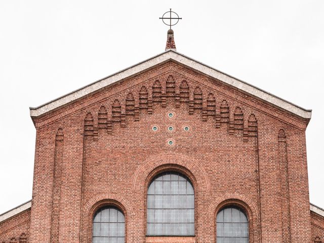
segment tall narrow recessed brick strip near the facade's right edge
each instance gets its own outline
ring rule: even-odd
[[[290,197],[288,180],[288,160],[287,160],[287,138],[284,130],[278,134],[279,143],[279,163],[281,180],[281,220],[282,220],[282,242],[291,242],[291,222],[290,222]]]

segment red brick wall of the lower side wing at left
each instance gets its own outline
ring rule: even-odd
[[[0,242],[29,242],[30,209],[0,223]]]

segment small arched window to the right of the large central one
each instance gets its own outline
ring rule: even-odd
[[[237,207],[223,208],[217,214],[217,243],[248,243],[247,215]]]

